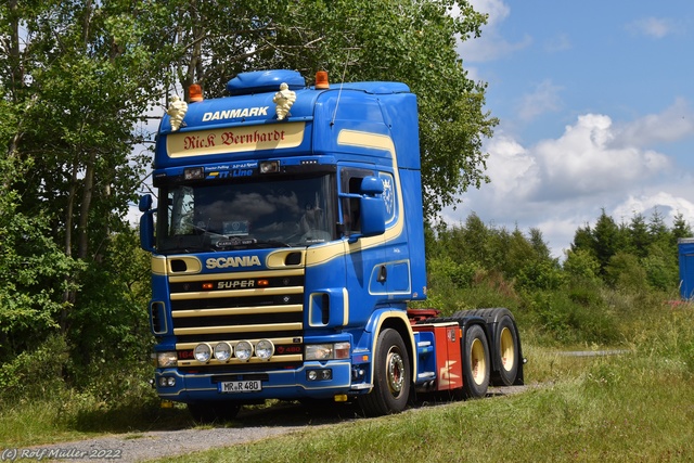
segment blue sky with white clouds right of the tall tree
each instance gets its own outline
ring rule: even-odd
[[[694,1],[471,3],[489,22],[459,51],[500,125],[491,183],[444,220],[538,228],[555,257],[603,208],[694,227]]]

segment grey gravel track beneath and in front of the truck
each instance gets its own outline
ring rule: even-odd
[[[488,396],[507,396],[522,393],[527,387],[491,388]],[[414,413],[422,408],[424,407],[410,409],[404,413]],[[114,460],[120,463],[141,462],[165,456],[174,458],[217,447],[248,443],[299,432],[308,426],[345,423],[356,419],[357,415],[349,406],[307,409],[299,404],[280,403],[269,409],[242,410],[239,417],[230,424],[233,427],[153,430],[26,449],[5,449],[0,459],[7,461],[24,456],[35,461]],[[15,451],[16,454],[13,455],[12,451]]]

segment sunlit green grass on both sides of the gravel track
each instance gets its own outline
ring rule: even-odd
[[[175,460],[694,461],[694,307],[655,307],[628,323],[619,356],[568,357],[527,336],[526,380],[537,387],[524,394],[312,427]],[[182,409],[105,406],[68,393],[0,408],[1,448],[193,425]]]

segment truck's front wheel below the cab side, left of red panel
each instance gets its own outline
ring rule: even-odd
[[[402,337],[393,329],[385,329],[378,335],[373,374],[373,388],[359,398],[364,413],[381,416],[404,410],[410,397],[412,372]]]

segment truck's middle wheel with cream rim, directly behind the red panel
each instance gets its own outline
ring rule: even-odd
[[[487,395],[491,362],[487,336],[479,325],[471,325],[463,336],[463,396],[477,399]]]

